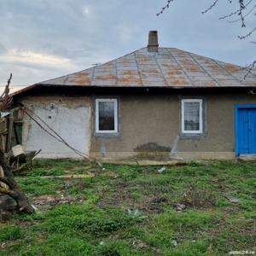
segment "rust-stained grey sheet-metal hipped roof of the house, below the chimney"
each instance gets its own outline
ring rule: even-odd
[[[105,64],[34,84],[27,90],[38,85],[175,89],[254,87],[256,72],[248,73],[244,67],[180,49],[159,48],[158,53],[148,53],[145,47]]]

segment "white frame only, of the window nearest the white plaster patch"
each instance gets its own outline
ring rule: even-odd
[[[101,131],[99,127],[99,102],[113,102],[114,108],[114,129]],[[96,133],[118,132],[118,100],[117,99],[96,99]]]

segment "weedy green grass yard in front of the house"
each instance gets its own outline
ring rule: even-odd
[[[0,255],[256,254],[255,164],[161,167],[34,161],[16,180],[38,211],[1,217]]]

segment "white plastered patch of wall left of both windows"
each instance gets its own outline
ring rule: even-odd
[[[79,100],[68,102],[68,104],[67,102],[59,104],[53,101],[32,104],[30,107],[33,112],[32,118],[36,121],[25,115],[23,124],[22,143],[26,150],[42,149],[38,158],[48,159],[81,158],[82,156],[76,154],[72,148],[88,155],[90,150],[90,107],[78,103]],[[71,148],[61,143],[62,139]]]

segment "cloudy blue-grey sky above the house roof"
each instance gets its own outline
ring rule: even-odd
[[[0,0],[0,84],[13,73],[12,87],[31,85],[112,61],[148,44],[158,31],[160,47],[183,49],[218,61],[245,66],[255,60],[255,9],[219,20],[238,8],[238,0]],[[251,3],[251,8],[255,0]],[[250,8],[247,9],[248,11]],[[19,87],[17,87],[19,88]]]

